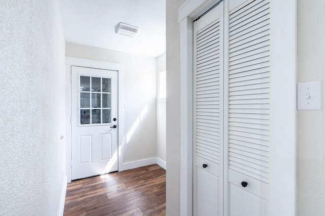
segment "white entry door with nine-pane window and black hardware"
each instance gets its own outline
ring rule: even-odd
[[[71,68],[72,180],[118,170],[118,74]]]

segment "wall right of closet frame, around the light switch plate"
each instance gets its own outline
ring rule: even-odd
[[[298,110],[298,215],[325,215],[325,1],[298,0],[298,82],[322,81],[322,110]]]

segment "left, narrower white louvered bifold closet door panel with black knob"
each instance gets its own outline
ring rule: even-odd
[[[223,3],[194,22],[194,215],[223,215]],[[221,80],[221,81],[220,81]],[[221,175],[221,177],[220,177]]]

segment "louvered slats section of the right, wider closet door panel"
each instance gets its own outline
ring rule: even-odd
[[[229,168],[269,183],[269,1],[230,12],[229,35]]]

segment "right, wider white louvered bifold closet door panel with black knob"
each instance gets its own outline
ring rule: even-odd
[[[268,215],[270,2],[230,0],[228,11],[229,215]]]

